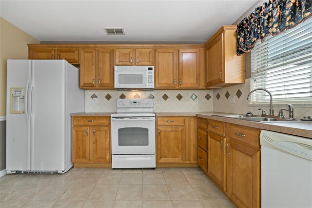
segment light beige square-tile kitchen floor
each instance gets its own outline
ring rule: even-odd
[[[0,178],[1,208],[233,208],[198,167],[72,168]]]

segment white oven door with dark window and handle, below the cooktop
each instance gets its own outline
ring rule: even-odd
[[[112,154],[155,154],[155,117],[111,118]]]

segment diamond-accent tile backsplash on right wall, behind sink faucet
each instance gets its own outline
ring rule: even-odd
[[[214,100],[214,111],[223,113],[234,113],[234,114],[246,114],[248,111],[254,113],[254,115],[261,115],[263,106],[248,106],[249,101],[247,100],[248,93],[250,92],[250,79],[247,79],[243,84],[237,84],[230,87],[214,89],[213,100]],[[235,96],[235,104],[230,104],[230,98]],[[294,104],[290,102],[290,104]],[[267,114],[270,112],[270,106],[263,107]],[[273,103],[274,115],[278,115],[278,111],[281,108],[288,108],[287,104],[276,105]],[[311,105],[294,105],[294,117],[301,119],[303,116],[312,116]],[[288,118],[288,111],[284,111],[285,118]]]

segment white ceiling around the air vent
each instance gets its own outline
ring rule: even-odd
[[[0,0],[0,16],[39,41],[206,42],[256,0]],[[108,36],[104,27],[123,27]]]

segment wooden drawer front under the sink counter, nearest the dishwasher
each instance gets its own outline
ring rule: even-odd
[[[228,137],[243,142],[247,145],[260,148],[259,131],[229,125]]]

